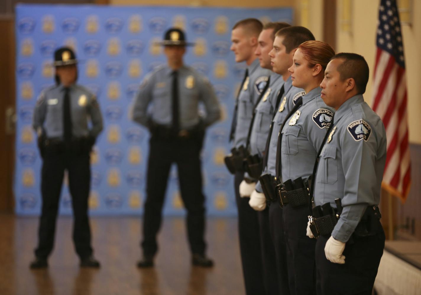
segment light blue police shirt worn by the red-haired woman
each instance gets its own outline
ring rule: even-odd
[[[313,173],[314,162],[330,126],[333,110],[320,97],[322,89],[316,87],[303,97],[303,105],[286,121],[282,129],[281,171],[282,181]]]

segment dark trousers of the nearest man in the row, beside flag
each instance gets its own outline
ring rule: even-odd
[[[321,236],[316,244],[317,295],[371,295],[383,255],[383,229],[369,237],[352,235],[343,253],[345,264],[326,259],[328,238]]]

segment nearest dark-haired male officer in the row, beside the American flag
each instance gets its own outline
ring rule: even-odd
[[[334,208],[330,211],[335,221],[339,215],[336,225],[320,232],[316,243],[320,295],[371,294],[383,254],[385,236],[378,203],[386,131],[362,97],[368,77],[361,55],[339,53],[328,63],[320,84],[322,99],[336,113],[315,167],[313,217],[327,215],[326,208]],[[337,198],[340,202],[335,202]],[[322,216],[315,216],[319,206]],[[307,233],[313,237],[309,229]]]

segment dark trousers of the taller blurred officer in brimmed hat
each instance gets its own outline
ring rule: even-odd
[[[158,137],[149,142],[147,198],[144,210],[144,255],[157,253],[156,236],[161,226],[162,207],[171,165],[177,164],[181,199],[187,209],[187,233],[192,253],[205,254],[205,196],[202,192],[200,150],[203,137]]]

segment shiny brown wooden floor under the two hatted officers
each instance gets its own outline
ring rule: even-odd
[[[139,270],[141,219],[92,218],[93,247],[101,269],[80,269],[72,242],[72,219],[60,218],[48,270],[30,270],[37,218],[0,215],[0,295],[184,295],[244,294],[237,219],[208,219],[213,269],[193,267],[184,219],[167,218],[155,268]]]

